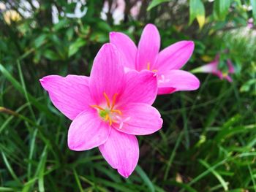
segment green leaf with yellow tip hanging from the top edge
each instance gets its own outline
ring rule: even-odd
[[[206,10],[201,0],[190,0],[189,1],[189,25],[192,21],[197,19],[200,28],[206,22]]]

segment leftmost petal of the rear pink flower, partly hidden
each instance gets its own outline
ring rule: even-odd
[[[135,59],[137,47],[132,39],[126,34],[120,32],[110,32],[110,43],[116,45],[120,53],[124,57],[124,66],[129,69],[135,69]]]

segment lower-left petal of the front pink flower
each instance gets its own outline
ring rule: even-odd
[[[108,140],[110,126],[94,109],[81,112],[69,126],[67,142],[71,150],[90,150]]]

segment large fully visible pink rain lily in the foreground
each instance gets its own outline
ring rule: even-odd
[[[158,131],[162,118],[151,106],[157,96],[154,73],[125,74],[122,61],[116,47],[105,44],[94,59],[90,77],[49,75],[40,82],[55,107],[72,120],[69,148],[99,147],[108,164],[129,177],[139,158],[135,135]]]

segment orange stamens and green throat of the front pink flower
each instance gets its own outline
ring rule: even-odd
[[[110,99],[108,98],[108,95],[105,92],[103,93],[103,95],[105,97],[107,106],[101,107],[96,104],[93,104],[90,106],[97,109],[99,112],[99,117],[102,120],[109,122],[109,124],[111,126],[112,123],[117,123],[116,120],[119,118],[118,115],[122,115],[120,110],[114,109],[115,104],[116,104],[116,96],[118,95],[118,93],[115,93],[113,95],[112,103],[110,103]]]

